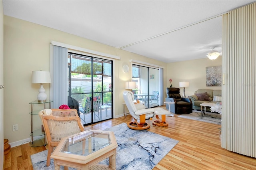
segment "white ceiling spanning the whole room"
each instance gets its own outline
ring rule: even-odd
[[[222,14],[256,0],[3,0],[19,18],[163,62],[222,51]]]

